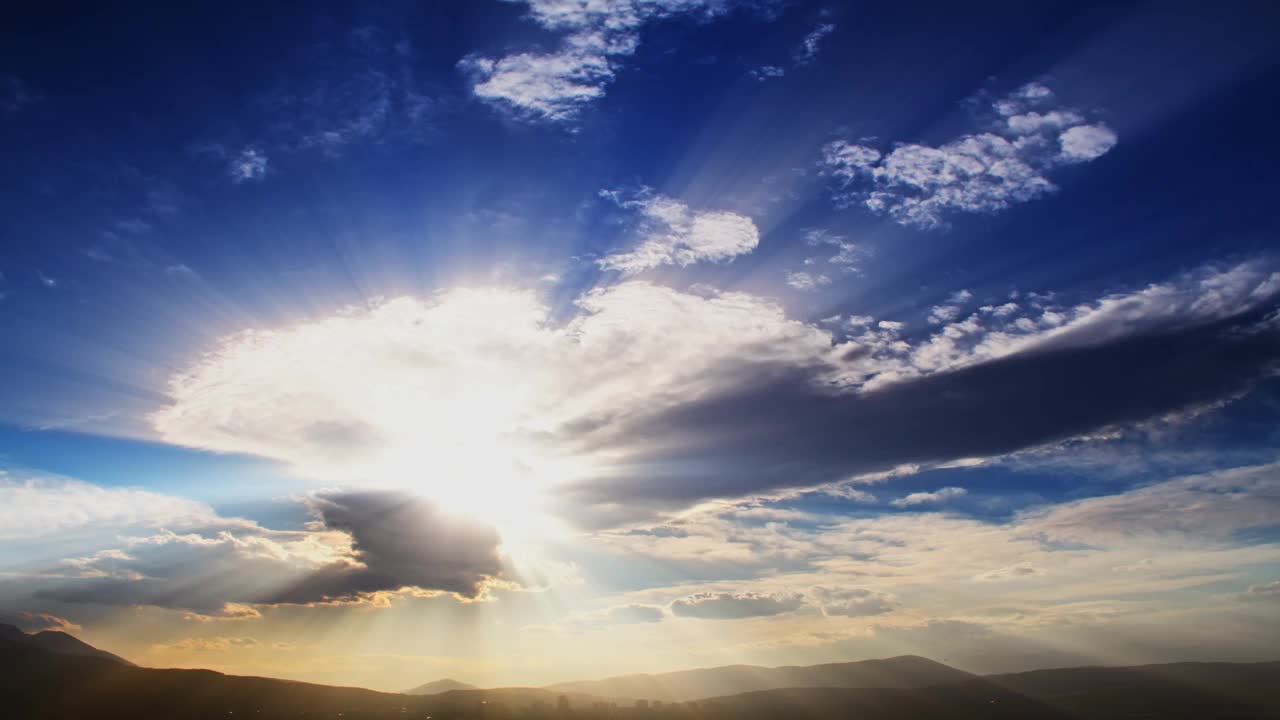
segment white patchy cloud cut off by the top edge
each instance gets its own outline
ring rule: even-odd
[[[549,123],[572,122],[604,96],[621,60],[639,47],[645,23],[680,14],[714,17],[728,9],[719,0],[524,1],[531,20],[563,33],[559,47],[502,58],[472,54],[458,67],[477,99],[516,118]]]

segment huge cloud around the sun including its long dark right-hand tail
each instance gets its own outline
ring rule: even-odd
[[[169,442],[324,482],[620,523],[1220,402],[1280,357],[1277,293],[1266,264],[1208,268],[979,307],[920,337],[634,281],[584,295],[567,322],[532,293],[452,291],[225,338],[154,421]]]

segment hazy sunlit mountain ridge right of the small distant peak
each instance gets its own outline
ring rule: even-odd
[[[728,665],[662,673],[620,675],[603,680],[559,683],[547,689],[618,698],[685,702],[780,688],[923,688],[960,683],[974,675],[925,657],[904,655],[887,660],[828,665],[758,667]]]

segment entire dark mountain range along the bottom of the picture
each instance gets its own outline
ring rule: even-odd
[[[17,720],[1280,719],[1280,662],[1183,662],[977,676],[904,656],[809,667],[739,665],[625,675],[550,688],[468,688],[457,680],[438,680],[412,691],[424,694],[402,694],[210,670],[154,670],[64,633],[28,635],[0,625],[0,716]],[[582,688],[611,694],[588,694]],[[687,702],[662,700],[717,689],[728,692]],[[618,691],[644,694],[621,700],[626,696],[612,694]]]

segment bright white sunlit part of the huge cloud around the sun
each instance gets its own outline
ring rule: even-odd
[[[481,505],[499,482],[522,511],[522,493],[586,470],[559,446],[575,428],[831,348],[827,332],[740,292],[626,282],[579,307],[558,325],[532,293],[460,290],[247,331],[175,375],[154,423],[168,442],[279,459],[325,482]]]

